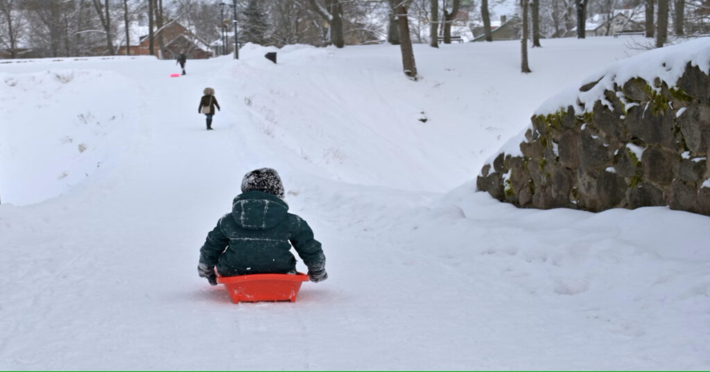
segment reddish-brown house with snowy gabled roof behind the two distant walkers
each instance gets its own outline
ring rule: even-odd
[[[150,55],[148,27],[136,27],[132,31],[134,33],[138,31],[140,36],[131,36],[131,40],[138,40],[139,43],[129,47],[130,55]],[[173,21],[159,32],[163,34],[163,43],[165,44],[163,48],[164,59],[174,59],[180,54],[180,51],[185,51],[187,58],[192,59],[204,59],[212,56],[209,44],[202,41],[178,22]],[[159,33],[154,33],[153,36],[153,51],[156,57],[160,57],[158,35]],[[121,46],[116,54],[126,55],[126,46]]]

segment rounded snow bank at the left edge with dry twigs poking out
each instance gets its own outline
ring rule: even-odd
[[[111,71],[0,74],[3,203],[38,203],[93,177],[129,146],[138,92]]]

